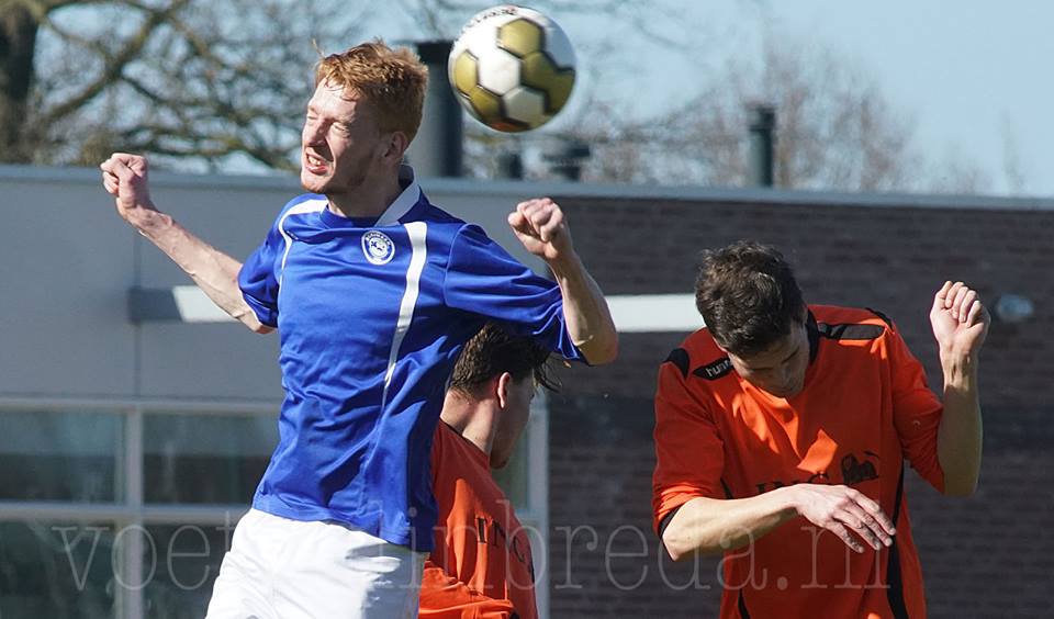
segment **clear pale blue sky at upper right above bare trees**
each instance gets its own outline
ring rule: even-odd
[[[608,27],[595,19],[561,15],[559,2],[524,3],[557,18],[572,41],[584,42]],[[617,32],[637,60],[654,55],[648,65],[660,67],[649,75],[630,67],[630,79],[597,85],[627,99],[627,106],[637,113],[658,112],[693,94],[682,75],[693,70],[686,56],[704,63],[727,54],[756,56],[761,33],[769,30],[831,48],[875,78],[895,109],[913,120],[915,146],[927,159],[979,168],[987,177],[987,192],[1054,195],[1050,173],[1054,2],[652,0],[651,4],[657,30],[669,29],[672,36],[697,35],[692,36],[694,49],[679,55],[635,41],[625,27]],[[662,25],[671,13],[676,23]],[[580,53],[580,64],[586,67],[596,60]],[[609,59],[605,74],[617,72]],[[649,95],[641,98],[640,92]],[[553,125],[560,128],[559,122]],[[1018,180],[1007,173],[1008,162]]]

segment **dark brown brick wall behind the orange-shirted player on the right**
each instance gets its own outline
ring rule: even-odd
[[[874,307],[896,320],[935,385],[927,315],[945,279],[968,281],[988,301],[1030,296],[1035,316],[995,323],[982,357],[979,492],[949,499],[909,476],[907,493],[931,617],[1054,616],[1054,211],[560,202],[608,294],[687,293],[703,248],[772,243],[809,302]],[[659,363],[684,335],[624,335],[618,361],[567,370],[551,401],[553,617],[716,615],[716,560],[672,565],[650,533],[651,395]]]

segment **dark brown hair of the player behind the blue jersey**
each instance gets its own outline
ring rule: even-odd
[[[528,337],[514,336],[487,323],[475,334],[453,367],[450,389],[471,394],[476,387],[503,372],[516,381],[532,375],[537,385],[556,391],[557,382],[548,367],[549,351]]]

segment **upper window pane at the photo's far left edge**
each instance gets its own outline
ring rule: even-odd
[[[120,498],[122,415],[0,410],[0,499]]]

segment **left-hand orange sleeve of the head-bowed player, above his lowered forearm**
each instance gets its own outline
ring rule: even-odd
[[[702,379],[688,379],[702,380]],[[655,532],[674,509],[697,497],[724,498],[725,443],[706,405],[688,389],[675,363],[659,369],[655,393]]]

